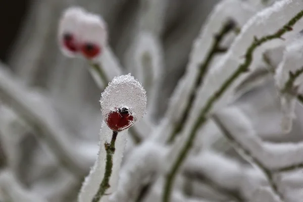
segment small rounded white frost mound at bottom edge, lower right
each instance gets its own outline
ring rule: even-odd
[[[249,202],[282,202],[270,188],[260,187],[258,190],[252,194]]]

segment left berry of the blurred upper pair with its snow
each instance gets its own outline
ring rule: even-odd
[[[61,51],[67,57],[75,57],[79,53],[79,25],[85,16],[85,10],[80,7],[66,9],[60,19],[58,40]]]

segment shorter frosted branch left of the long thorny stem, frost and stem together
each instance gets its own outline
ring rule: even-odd
[[[201,70],[201,65],[205,64],[205,70],[209,69],[211,64],[208,63],[212,62],[213,57],[216,55],[210,55],[212,53],[211,50],[218,54],[215,49],[222,49],[221,46],[213,47],[213,45],[216,45],[216,37],[214,35],[224,29],[226,19],[232,19],[237,27],[241,27],[255,12],[256,10],[246,3],[234,0],[222,1],[215,7],[206,24],[200,29],[200,34],[193,44],[186,72],[178,82],[170,99],[168,110],[165,114],[166,120],[162,121],[161,126],[159,126],[165,128],[165,138],[159,133],[161,134],[161,138],[159,137],[158,141],[168,141],[168,139],[174,136],[172,135],[174,134],[174,127],[177,127],[178,123],[183,124],[180,120],[183,119],[184,113],[188,113],[185,108],[186,106],[190,106],[188,105],[190,94],[194,95],[196,93],[197,89],[194,89],[194,83],[199,80],[198,77],[200,77],[200,74],[198,72]],[[232,34],[230,30],[228,32]],[[221,43],[217,43],[217,45],[222,45],[222,42],[225,42],[225,35],[228,34],[223,33],[222,38],[219,38]],[[224,46],[224,48],[227,47]],[[208,56],[210,56],[210,61],[205,63]],[[207,73],[207,71],[204,72]]]

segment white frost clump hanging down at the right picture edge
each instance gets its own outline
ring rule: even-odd
[[[289,74],[295,74],[297,71],[303,70],[302,56],[303,39],[298,38],[286,46],[283,60],[275,74],[276,85],[281,91],[281,108],[283,113],[281,126],[285,133],[290,132],[292,120],[295,118],[294,107],[296,103],[296,93],[303,90],[303,74],[300,74],[295,79],[291,79]],[[293,83],[285,89],[289,79],[291,79]]]

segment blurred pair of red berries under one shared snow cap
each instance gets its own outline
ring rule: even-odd
[[[66,56],[82,55],[92,60],[102,54],[108,34],[102,17],[79,7],[71,7],[61,17],[58,37]]]

